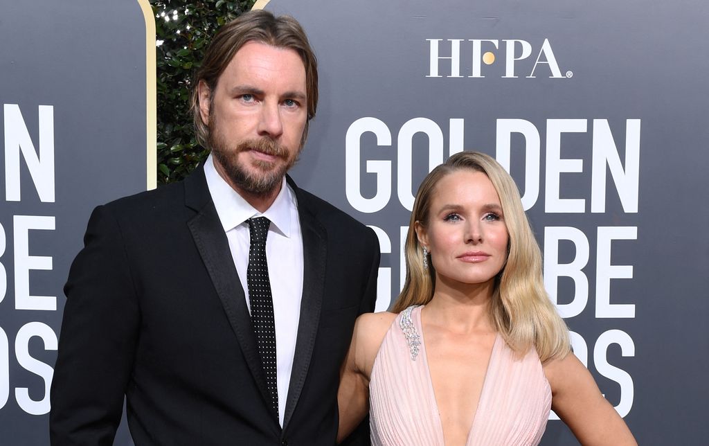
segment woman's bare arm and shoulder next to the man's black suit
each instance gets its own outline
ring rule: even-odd
[[[337,391],[340,411],[338,443],[350,435],[369,412],[369,377],[374,358],[394,318],[394,313],[365,313],[354,323],[352,342],[340,369],[340,389]]]

